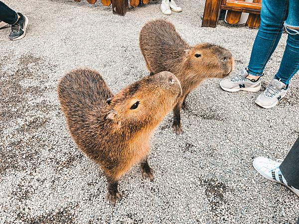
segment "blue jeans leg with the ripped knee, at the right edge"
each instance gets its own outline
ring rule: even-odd
[[[299,0],[289,1],[289,15],[285,22],[288,40],[286,50],[275,79],[288,85],[299,71]]]

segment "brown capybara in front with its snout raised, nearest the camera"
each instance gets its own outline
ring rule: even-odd
[[[112,205],[121,199],[118,180],[135,163],[142,161],[143,177],[153,180],[149,139],[181,95],[173,74],[145,77],[113,96],[98,72],[76,69],[62,77],[57,91],[71,136],[107,177]]]

